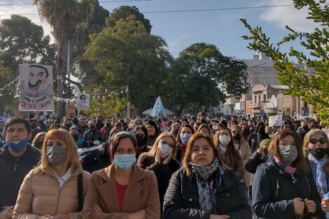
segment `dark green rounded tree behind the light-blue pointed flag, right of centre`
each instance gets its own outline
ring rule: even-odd
[[[240,97],[246,89],[245,70],[244,62],[225,57],[216,45],[190,45],[179,54],[169,76],[169,102],[179,106],[179,112],[186,108],[195,114],[203,107],[217,106],[227,94]]]

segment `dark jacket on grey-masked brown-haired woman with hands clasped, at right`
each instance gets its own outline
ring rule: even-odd
[[[311,216],[321,216],[321,199],[313,181],[306,174],[286,174],[269,156],[268,162],[260,164],[253,177],[253,212],[259,218],[300,218],[295,214],[293,199],[313,200],[316,203],[316,213]]]

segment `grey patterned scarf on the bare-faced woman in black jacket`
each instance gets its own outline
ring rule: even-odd
[[[199,203],[201,209],[211,212],[216,211],[216,208],[213,209],[213,206],[217,205],[215,195],[216,188],[221,184],[221,175],[224,174],[225,170],[219,164],[217,157],[208,167],[201,167],[200,165],[193,164],[191,162],[190,166],[195,173],[195,179],[197,181],[197,192],[199,194]],[[212,177],[211,182],[208,184],[206,181],[204,181],[204,179],[209,178],[212,174],[214,174],[214,177]]]

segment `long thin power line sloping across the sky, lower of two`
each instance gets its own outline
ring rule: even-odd
[[[130,0],[130,1],[133,1],[133,0]],[[142,1],[142,0],[140,0],[140,1]],[[143,0],[143,1],[151,1],[151,0]],[[158,10],[158,11],[144,11],[141,13],[186,13],[186,12],[201,12],[201,11],[213,11],[213,10],[241,10],[241,9],[257,9],[257,8],[276,8],[276,7],[287,7],[287,6],[294,6],[294,5],[285,4],[285,5],[273,5],[273,6],[247,6],[247,7],[236,7],[236,8],[209,8],[209,9],[193,9],[193,10]],[[6,16],[6,15],[11,15],[11,14],[2,14],[2,15],[0,14],[0,16]],[[16,15],[38,15],[38,14],[16,14]]]

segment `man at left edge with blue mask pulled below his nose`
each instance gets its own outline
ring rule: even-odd
[[[29,144],[30,132],[27,120],[6,122],[6,144],[0,149],[0,219],[12,218],[20,185],[40,160],[40,151]]]

